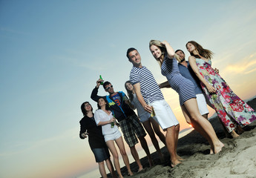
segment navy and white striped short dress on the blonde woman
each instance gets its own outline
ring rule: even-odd
[[[161,73],[168,79],[171,88],[180,96],[180,105],[184,105],[188,99],[196,98],[194,84],[180,74],[177,59],[168,59],[165,56],[161,66]]]

